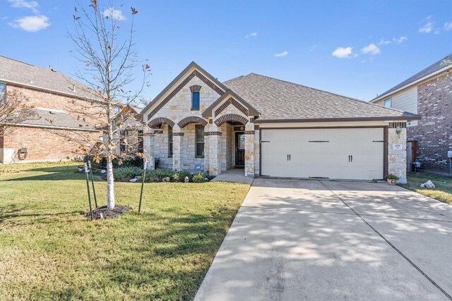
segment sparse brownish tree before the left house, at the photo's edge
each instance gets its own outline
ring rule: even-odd
[[[29,99],[18,91],[0,94],[0,136],[6,134],[11,126],[35,118],[33,106],[28,103]]]

